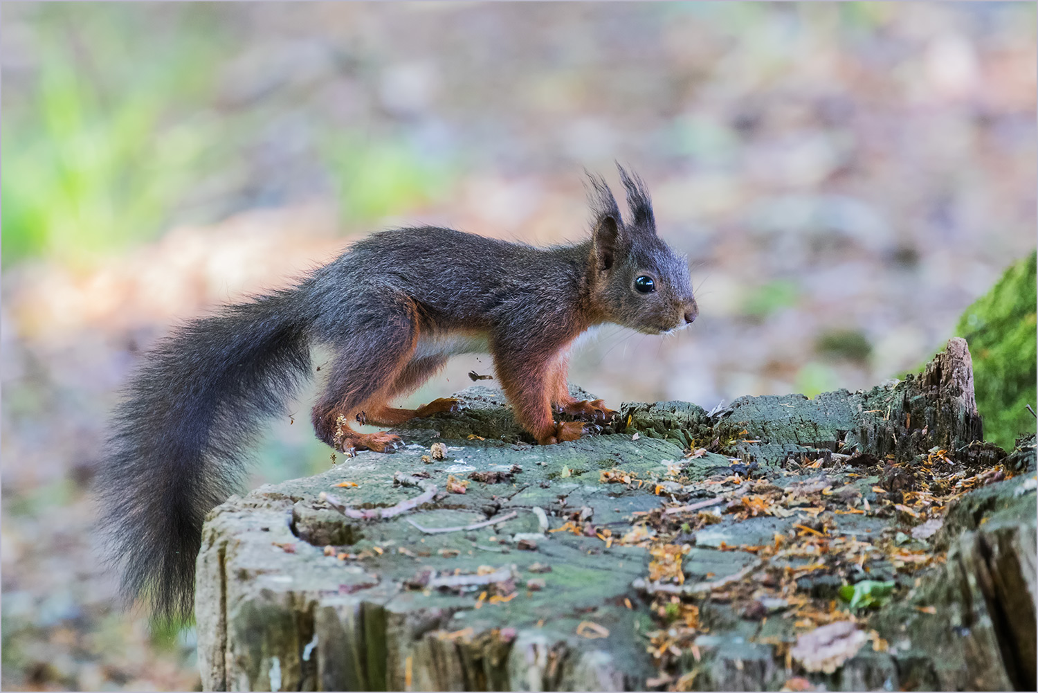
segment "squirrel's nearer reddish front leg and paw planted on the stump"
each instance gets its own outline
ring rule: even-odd
[[[551,418],[554,356],[537,351],[494,351],[497,377],[516,420],[541,445],[576,441],[583,433],[583,424],[578,421],[556,424]]]

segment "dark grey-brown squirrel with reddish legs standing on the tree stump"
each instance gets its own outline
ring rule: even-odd
[[[605,422],[602,400],[578,401],[568,349],[611,322],[649,335],[690,324],[699,309],[688,265],[657,235],[636,174],[618,165],[629,218],[588,174],[592,237],[538,248],[420,226],[355,243],[292,289],[224,305],[175,329],[142,359],[114,410],[97,495],[122,591],[155,614],[183,617],[194,601],[206,514],[237,489],[265,419],[311,375],[310,345],[333,353],[312,409],[332,448],[390,453],[401,439],[354,422],[397,426],[457,410],[443,398],[389,406],[453,354],[489,351],[517,421],[541,445],[576,441],[580,421]]]

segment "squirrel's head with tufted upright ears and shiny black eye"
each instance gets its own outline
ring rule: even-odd
[[[656,235],[645,183],[619,164],[630,218],[625,222],[612,191],[588,174],[595,212],[589,262],[593,300],[605,320],[647,335],[686,327],[699,315],[686,259]]]

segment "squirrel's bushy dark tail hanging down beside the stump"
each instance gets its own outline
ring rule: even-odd
[[[97,481],[122,590],[187,616],[206,513],[238,485],[248,447],[310,372],[309,319],[283,291],[194,320],[149,352],[115,411]]]

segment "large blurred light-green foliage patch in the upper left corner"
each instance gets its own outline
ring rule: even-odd
[[[219,141],[196,108],[214,86],[204,14],[173,12],[168,31],[144,36],[139,12],[121,7],[38,8],[32,84],[4,100],[5,265],[92,255],[161,228]]]

